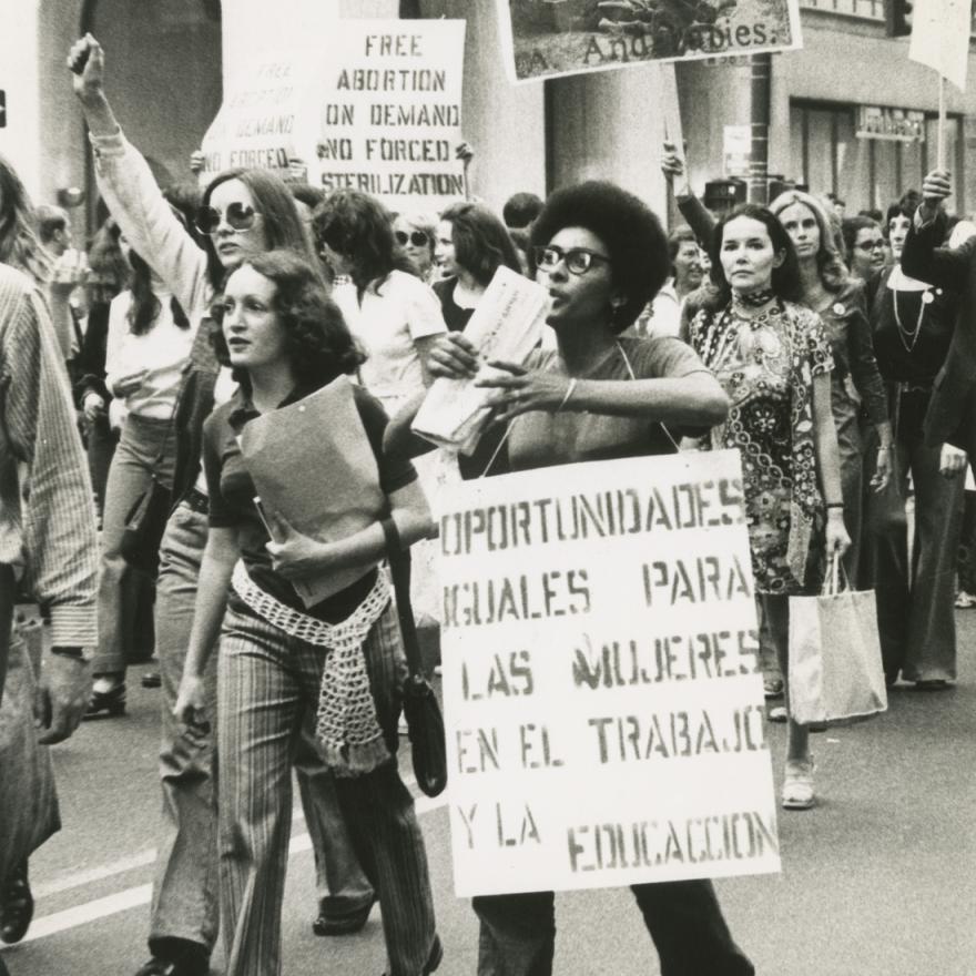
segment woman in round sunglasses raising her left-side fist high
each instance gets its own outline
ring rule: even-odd
[[[315,256],[287,187],[261,170],[226,171],[210,183],[197,216],[205,235],[201,247],[163,200],[145,160],[122,134],[105,98],[101,45],[88,34],[72,47],[68,64],[74,71],[74,91],[91,133],[102,196],[133,247],[145,255],[179,299],[194,333],[175,416],[173,510],[160,548],[156,655],[163,682],[160,779],[165,823],[150,921],[152,958],[139,976],[203,976],[220,922],[213,740],[207,731],[177,722],[173,708],[206,543],[203,423],[215,401],[230,398],[235,383],[231,370],[221,369],[214,356],[210,326],[201,327],[201,323],[209,319],[213,297],[227,273],[246,257],[272,247],[291,247],[312,261]],[[215,663],[206,675],[211,702],[216,698]],[[315,932],[354,932],[365,924],[374,893],[353,853],[332,774],[311,729],[301,740],[295,766],[315,851],[319,898]],[[230,953],[227,973],[263,972],[267,953],[267,944],[255,931],[250,942],[245,939]]]

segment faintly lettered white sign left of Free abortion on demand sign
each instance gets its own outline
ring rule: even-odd
[[[202,184],[236,166],[304,180],[315,155],[315,55],[268,52],[234,77],[203,138]]]

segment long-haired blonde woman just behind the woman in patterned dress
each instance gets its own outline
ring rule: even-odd
[[[874,426],[877,454],[871,488],[883,491],[892,475],[892,425],[887,397],[877,370],[864,285],[852,277],[834,247],[827,214],[809,193],[781,193],[770,210],[786,228],[800,265],[800,301],[815,312],[826,329],[834,359],[831,405],[841,451],[844,523],[851,548],[844,557],[847,577],[857,579],[862,520],[864,446],[858,414]]]

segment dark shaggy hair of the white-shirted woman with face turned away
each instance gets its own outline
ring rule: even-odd
[[[353,265],[356,287],[382,284],[392,271],[416,275],[413,262],[396,246],[393,216],[375,197],[359,190],[336,190],[312,215],[312,231],[319,247],[342,254]]]

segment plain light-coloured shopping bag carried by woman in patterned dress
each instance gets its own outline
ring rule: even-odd
[[[789,664],[790,714],[801,725],[886,711],[874,590],[791,597]]]

